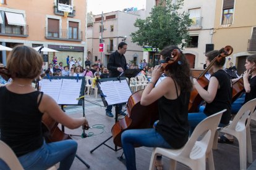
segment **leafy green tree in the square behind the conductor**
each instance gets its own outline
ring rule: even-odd
[[[172,45],[182,45],[189,40],[187,33],[192,20],[189,14],[181,12],[184,0],[160,1],[158,6],[152,8],[150,16],[145,20],[137,19],[134,26],[139,28],[131,34],[132,42],[139,46],[151,46],[163,49]]]

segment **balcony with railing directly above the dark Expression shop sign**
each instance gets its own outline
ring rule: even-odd
[[[82,31],[72,32],[69,30],[48,30],[45,28],[46,39],[56,39],[62,41],[82,41]]]

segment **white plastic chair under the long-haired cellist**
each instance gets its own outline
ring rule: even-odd
[[[149,169],[154,169],[153,165],[155,163],[156,155],[163,155],[170,158],[170,169],[176,169],[176,161],[186,164],[191,169],[206,169],[206,159],[208,159],[209,169],[215,169],[211,148],[216,127],[220,123],[224,111],[226,111],[226,109],[203,119],[203,121],[195,127],[192,136],[184,147],[180,149],[154,148]]]

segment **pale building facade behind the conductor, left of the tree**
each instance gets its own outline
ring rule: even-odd
[[[119,42],[124,41],[128,44],[125,54],[127,63],[133,61],[138,64],[143,57],[142,47],[133,43],[130,37],[130,34],[137,29],[134,26],[137,18],[145,18],[145,10],[134,12],[115,11],[93,16],[93,26],[88,25],[87,27],[87,53],[91,54],[92,62],[100,59],[106,66],[109,55],[117,50]],[[101,20],[103,21],[102,24]],[[102,29],[101,25],[103,25]],[[103,30],[102,33],[101,30]],[[101,40],[105,44],[104,52],[99,52]]]

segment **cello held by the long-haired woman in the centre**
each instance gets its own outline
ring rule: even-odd
[[[166,63],[163,63],[161,70],[168,70],[169,67],[179,60],[180,52],[174,49],[172,57]],[[140,100],[143,90],[134,92],[130,95],[126,110],[127,115],[119,119],[111,129],[113,135],[113,142],[118,147],[122,147],[121,134],[127,129],[146,129],[153,127],[153,123],[158,120],[158,100],[148,106],[142,106]]]

